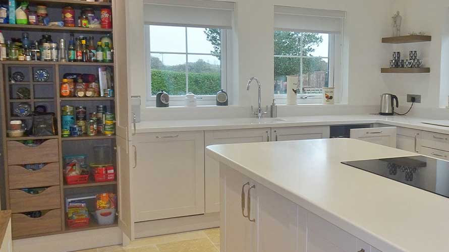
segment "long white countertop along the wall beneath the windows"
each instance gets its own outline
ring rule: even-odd
[[[381,116],[374,114],[360,115],[320,115],[320,116],[295,116],[278,118],[225,118],[225,119],[199,119],[199,120],[164,120],[142,121],[136,123],[137,133],[175,132],[175,131],[206,131],[206,130],[231,130],[251,128],[275,128],[298,127],[313,125],[338,125],[338,124],[362,124],[384,123],[399,127],[431,131],[449,134],[449,127],[441,127],[422,123],[423,120],[431,120],[409,116]],[[130,129],[133,129],[131,125]]]

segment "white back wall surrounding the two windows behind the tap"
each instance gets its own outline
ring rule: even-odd
[[[132,15],[129,15],[129,61],[133,95],[141,95],[145,100],[145,59],[143,49],[142,0],[133,0]],[[246,82],[256,76],[262,82],[262,103],[269,105],[273,98],[273,17],[274,5],[316,9],[341,10],[347,12],[345,21],[344,66],[349,85],[348,105],[323,106],[280,106],[279,116],[300,114],[367,113],[376,111],[379,95],[388,91],[385,79],[380,75],[379,66],[387,60],[388,48],[380,43],[380,37],[390,31],[392,0],[235,0],[236,55],[234,57],[237,74],[233,99],[237,106],[226,108],[145,108],[142,118],[147,120],[212,118],[249,116],[250,105],[257,104],[256,85],[246,91]],[[141,27],[141,28],[140,28]],[[140,33],[140,34],[139,34]],[[136,37],[133,37],[136,36]],[[238,47],[237,47],[238,45]],[[237,65],[238,64],[238,65]],[[365,107],[366,106],[366,107]]]

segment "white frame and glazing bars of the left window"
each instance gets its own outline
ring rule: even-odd
[[[151,53],[163,53],[163,54],[185,54],[186,55],[186,62],[188,62],[188,55],[212,55],[216,56],[218,54],[214,53],[192,53],[188,52],[188,40],[187,40],[187,28],[213,28],[213,27],[203,27],[203,26],[192,26],[192,25],[183,25],[180,27],[186,28],[186,52],[164,52],[164,51],[151,51],[150,48],[150,25],[157,25],[157,24],[145,24],[145,58],[146,58],[146,80],[147,80],[147,94],[146,94],[146,106],[154,107],[156,105],[156,96],[151,94]],[[170,25],[164,25],[164,26],[170,26]],[[178,25],[174,25],[178,26]],[[221,30],[221,54],[220,54],[220,70],[221,70],[221,89],[227,90],[228,87],[228,79],[229,73],[228,73],[228,57],[229,57],[229,50],[228,50],[228,44],[229,44],[229,30],[228,29],[220,29]],[[188,65],[186,64],[186,91],[188,91],[188,83],[189,83],[189,70]],[[217,90],[218,92],[218,90]],[[195,95],[195,97],[198,99],[197,103],[198,105],[215,105],[216,103],[216,96],[215,95]],[[185,105],[185,95],[170,95],[170,105],[173,106],[184,106]]]

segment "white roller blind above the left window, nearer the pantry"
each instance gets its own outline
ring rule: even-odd
[[[207,0],[144,0],[146,24],[230,29],[235,3]]]

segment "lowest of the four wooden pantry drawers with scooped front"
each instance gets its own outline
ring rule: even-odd
[[[61,209],[50,210],[39,218],[24,214],[13,214],[13,237],[61,231]]]

